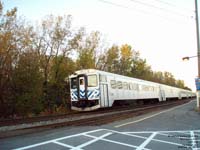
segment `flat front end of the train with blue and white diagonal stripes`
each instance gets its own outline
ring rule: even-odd
[[[98,74],[92,70],[80,70],[70,78],[71,109],[91,111],[100,108]]]

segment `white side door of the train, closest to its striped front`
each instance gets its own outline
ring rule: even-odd
[[[101,90],[101,107],[109,107],[108,85],[100,84],[100,90]]]

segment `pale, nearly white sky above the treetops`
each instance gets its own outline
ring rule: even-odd
[[[130,44],[155,71],[171,72],[195,91],[197,54],[194,0],[3,0],[29,21],[73,17],[74,27],[98,30],[107,45]]]

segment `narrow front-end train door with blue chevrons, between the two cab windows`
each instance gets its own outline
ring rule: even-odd
[[[86,99],[86,77],[85,76],[78,76],[78,98],[79,99]]]

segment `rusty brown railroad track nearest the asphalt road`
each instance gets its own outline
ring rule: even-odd
[[[90,112],[90,115],[88,115],[88,113],[83,113],[81,115],[76,114],[67,120],[61,119],[60,122],[57,122],[57,121],[53,122],[52,120],[49,122],[41,121],[41,122],[44,122],[44,124],[38,124],[38,125],[33,124],[33,126],[27,126],[27,127],[17,128],[13,130],[0,131],[0,138],[39,132],[39,131],[44,131],[44,130],[58,128],[58,127],[65,127],[65,126],[97,126],[97,125],[107,124],[107,123],[118,121],[118,120],[131,118],[134,116],[139,116],[142,114],[147,114],[153,111],[171,108],[177,105],[187,103],[189,101],[190,100],[181,100],[181,101],[161,103],[161,104],[159,103],[154,106],[143,106],[142,108],[134,108],[134,109],[132,108],[128,110],[117,109],[116,111],[115,109],[115,111],[110,110],[109,112],[107,112],[107,110],[100,110],[100,111]]]

